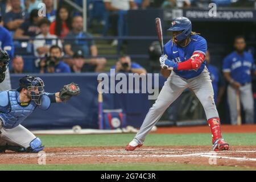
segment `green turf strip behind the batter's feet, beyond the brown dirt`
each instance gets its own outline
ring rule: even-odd
[[[135,134],[40,135],[46,147],[125,146]],[[224,134],[231,146],[256,146],[256,133]],[[210,134],[150,134],[144,146],[210,146]]]

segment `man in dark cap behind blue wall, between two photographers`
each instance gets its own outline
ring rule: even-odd
[[[73,64],[71,68],[71,72],[73,73],[82,73],[82,72],[94,72],[96,70],[96,66],[90,63],[85,63],[84,55],[82,55],[82,51],[77,51],[73,55]]]

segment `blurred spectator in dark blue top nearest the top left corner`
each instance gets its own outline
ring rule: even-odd
[[[11,11],[5,14],[3,22],[5,27],[15,31],[27,18],[27,13],[22,10],[20,0],[11,0]]]

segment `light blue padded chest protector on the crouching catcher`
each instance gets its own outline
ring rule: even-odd
[[[8,112],[0,113],[0,117],[3,120],[3,126],[6,129],[12,129],[18,126],[35,110],[35,102],[30,102],[27,106],[20,106],[17,101],[17,96],[19,96],[18,92],[8,91],[7,97],[9,97],[9,105],[4,109]]]

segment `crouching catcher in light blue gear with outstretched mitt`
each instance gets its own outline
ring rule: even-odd
[[[76,84],[65,85],[60,92],[44,92],[44,82],[39,77],[25,76],[19,88],[0,92],[0,152],[39,152],[44,146],[25,127],[20,125],[36,107],[47,110],[51,103],[69,100],[80,93]]]

